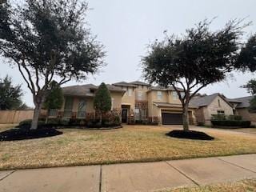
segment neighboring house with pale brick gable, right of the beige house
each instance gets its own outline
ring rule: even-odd
[[[235,110],[235,106],[231,105],[222,94],[218,93],[205,96],[198,95],[191,99],[190,104],[198,107],[195,113],[197,122],[208,126],[211,125],[212,114],[233,115]]]

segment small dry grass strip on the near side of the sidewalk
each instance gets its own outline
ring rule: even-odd
[[[229,182],[212,186],[198,186],[194,188],[180,188],[169,192],[254,192],[256,179],[246,179],[239,182]]]

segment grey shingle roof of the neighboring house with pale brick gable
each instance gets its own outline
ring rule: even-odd
[[[203,96],[203,97],[199,97],[199,98],[192,98],[190,100],[190,104],[193,105],[193,106],[198,106],[198,107],[201,107],[201,106],[209,106],[210,103],[212,101],[214,101],[214,98],[216,97],[221,97],[224,101],[226,101],[229,105],[230,103],[226,100],[226,98],[224,98],[221,94],[219,93],[216,93],[216,94],[210,94],[210,95],[206,95],[206,96]]]

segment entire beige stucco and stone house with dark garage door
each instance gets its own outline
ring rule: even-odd
[[[145,82],[117,82],[107,85],[112,109],[118,111],[122,122],[150,121],[159,124],[182,124],[182,105],[175,90],[150,86]],[[50,110],[49,117],[86,118],[94,115],[94,94],[98,86],[62,87],[65,102],[61,110]],[[195,122],[196,106],[190,105],[189,122]]]

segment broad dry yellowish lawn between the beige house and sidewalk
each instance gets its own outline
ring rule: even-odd
[[[0,142],[0,170],[116,162],[150,162],[256,153],[256,135],[203,129],[214,141],[170,138],[174,126],[65,129],[52,138]],[[197,129],[197,128],[196,128]]]

